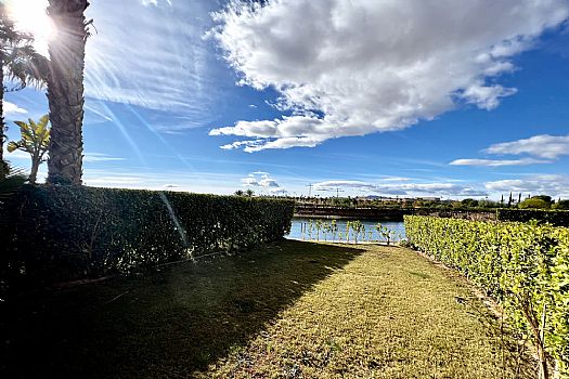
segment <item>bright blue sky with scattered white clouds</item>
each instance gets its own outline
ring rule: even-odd
[[[47,53],[47,0],[5,2]],[[568,0],[91,3],[86,185],[569,198]]]

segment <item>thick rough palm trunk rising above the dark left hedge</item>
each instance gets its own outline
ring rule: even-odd
[[[48,15],[57,27],[49,44],[51,143],[48,182],[81,184],[85,44],[89,37],[88,0],[49,0]]]

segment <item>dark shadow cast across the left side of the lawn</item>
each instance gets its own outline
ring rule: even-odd
[[[0,304],[0,376],[189,377],[361,252],[288,240]]]

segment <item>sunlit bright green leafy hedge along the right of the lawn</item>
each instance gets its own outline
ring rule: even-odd
[[[405,231],[415,248],[499,299],[536,347],[545,308],[545,351],[569,378],[569,228],[406,215]]]

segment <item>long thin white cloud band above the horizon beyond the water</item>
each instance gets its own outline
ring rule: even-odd
[[[486,196],[478,188],[456,183],[370,183],[362,181],[326,181],[314,184],[315,190],[345,188],[355,192],[404,196]]]

